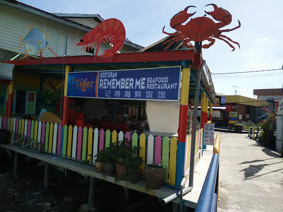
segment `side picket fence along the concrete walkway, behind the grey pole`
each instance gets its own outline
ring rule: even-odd
[[[186,180],[188,179],[188,172],[190,168],[190,146],[191,146],[192,138],[191,135],[186,136],[186,145],[185,145],[185,168],[184,175],[186,175]],[[196,133],[196,142],[195,142],[195,161],[194,167],[197,165],[198,161],[201,158],[201,150],[203,146],[203,129],[200,129]]]

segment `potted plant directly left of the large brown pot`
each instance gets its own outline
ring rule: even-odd
[[[135,147],[134,150],[131,151],[128,158],[128,174],[129,174],[129,181],[130,183],[135,184],[139,181],[139,176],[141,173],[141,169],[139,166],[144,162],[141,157],[136,156],[137,150],[140,147]]]

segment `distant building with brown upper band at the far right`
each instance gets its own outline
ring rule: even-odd
[[[254,89],[254,95],[258,100],[274,103],[274,100],[280,101],[283,99],[283,91],[281,88],[275,89]]]

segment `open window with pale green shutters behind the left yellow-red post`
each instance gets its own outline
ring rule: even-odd
[[[7,93],[7,90],[6,92]],[[12,114],[35,114],[36,105],[36,92],[14,90],[13,95]],[[6,94],[5,94],[6,100]],[[6,101],[4,107],[4,113],[6,113]]]

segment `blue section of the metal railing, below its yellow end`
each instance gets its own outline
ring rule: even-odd
[[[195,212],[217,211],[219,155],[213,154]]]

